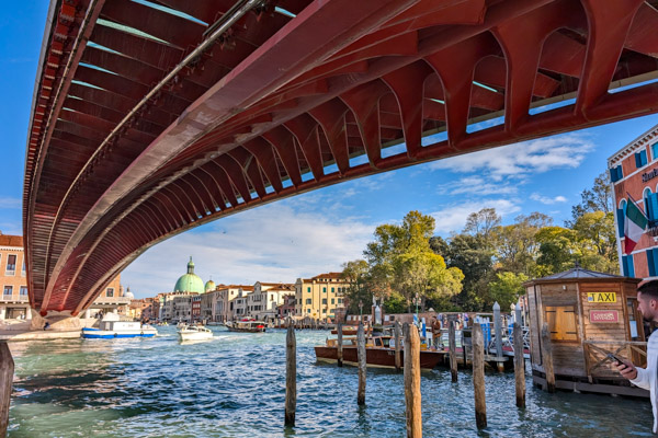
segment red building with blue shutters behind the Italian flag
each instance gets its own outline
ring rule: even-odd
[[[608,159],[615,214],[620,273],[627,277],[658,278],[658,126],[654,126]],[[624,221],[634,199],[647,216],[647,231],[625,253]],[[628,246],[633,246],[629,244]]]

